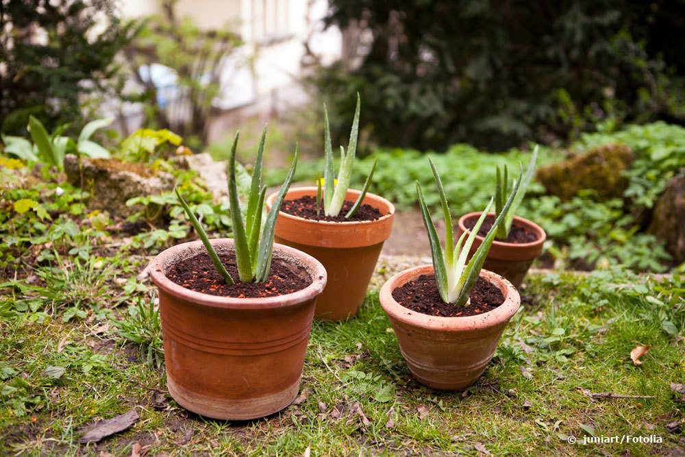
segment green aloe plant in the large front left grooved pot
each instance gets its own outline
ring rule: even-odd
[[[231,209],[231,219],[234,233],[234,246],[236,251],[236,266],[238,267],[238,277],[240,282],[264,282],[269,277],[271,270],[271,254],[273,251],[273,234],[276,225],[276,217],[283,203],[283,199],[290,188],[292,177],[295,175],[297,167],[298,147],[295,146],[295,158],[292,159],[290,171],[286,181],[281,186],[269,214],[267,214],[262,227],[262,214],[264,206],[264,194],[266,186],[262,184],[262,158],[264,156],[264,140],[266,139],[266,127],[262,130],[257,150],[257,158],[253,166],[252,180],[250,183],[249,195],[247,198],[247,210],[245,221],[242,220],[240,212],[240,202],[238,201],[238,185],[236,184],[236,147],[238,146],[238,136],[233,140],[231,155],[228,159],[228,195]],[[226,271],[221,263],[221,259],[214,251],[210,240],[203,229],[201,223],[195,217],[190,206],[184,200],[178,188],[175,188],[176,196],[181,206],[186,212],[186,216],[195,227],[197,236],[205,245],[214,267],[221,273],[226,284],[235,284],[234,278]],[[261,234],[261,236],[260,236]]]

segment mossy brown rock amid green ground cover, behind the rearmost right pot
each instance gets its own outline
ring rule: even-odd
[[[547,192],[568,200],[579,190],[593,189],[600,198],[622,197],[628,186],[622,175],[634,160],[633,151],[626,145],[604,145],[586,153],[543,166],[537,177]]]

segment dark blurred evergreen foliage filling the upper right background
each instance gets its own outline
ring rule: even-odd
[[[355,61],[312,83],[345,135],[354,94],[372,145],[506,149],[599,121],[685,122],[685,2],[331,0]],[[336,122],[337,120],[337,122]]]

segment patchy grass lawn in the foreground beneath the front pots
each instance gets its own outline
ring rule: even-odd
[[[680,277],[530,276],[485,375],[455,393],[412,378],[371,290],[356,319],[314,323],[296,404],[227,423],[166,394],[159,323],[145,312],[155,293],[129,279],[140,264],[105,275],[109,267],[84,262],[51,271],[53,281],[37,269],[37,282],[4,284],[0,454],[682,455],[685,439],[672,429],[682,427],[685,395],[671,386],[685,381]],[[634,365],[639,345],[650,349]],[[79,444],[93,421],[131,408],[140,416],[132,428]],[[592,434],[662,443],[583,445]]]

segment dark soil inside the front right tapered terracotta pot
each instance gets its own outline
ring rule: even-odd
[[[497,286],[479,277],[471,291],[468,306],[447,304],[440,298],[435,275],[421,275],[401,287],[395,288],[393,298],[412,311],[440,317],[477,316],[492,311],[504,303],[504,295]]]

